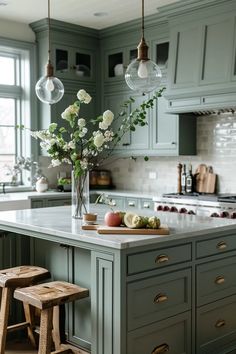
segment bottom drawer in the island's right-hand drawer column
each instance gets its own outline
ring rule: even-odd
[[[202,306],[197,313],[197,353],[221,354],[236,347],[236,297]]]

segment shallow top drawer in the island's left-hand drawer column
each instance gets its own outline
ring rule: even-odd
[[[128,256],[128,274],[141,273],[187,262],[191,258],[191,244],[133,254]]]

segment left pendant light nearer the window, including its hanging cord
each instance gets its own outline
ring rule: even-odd
[[[36,83],[35,92],[43,103],[54,104],[60,101],[64,95],[62,82],[53,76],[53,66],[50,60],[51,54],[51,19],[50,19],[50,0],[48,0],[48,63],[46,65],[46,75],[41,77]]]

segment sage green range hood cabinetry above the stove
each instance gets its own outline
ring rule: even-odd
[[[170,112],[233,107],[236,4],[206,4],[171,16],[168,85]]]

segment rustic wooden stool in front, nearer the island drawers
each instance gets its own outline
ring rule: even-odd
[[[50,354],[52,337],[57,353],[71,353],[61,345],[59,305],[88,297],[89,290],[62,281],[53,281],[15,290],[14,297],[41,310],[38,354]]]

